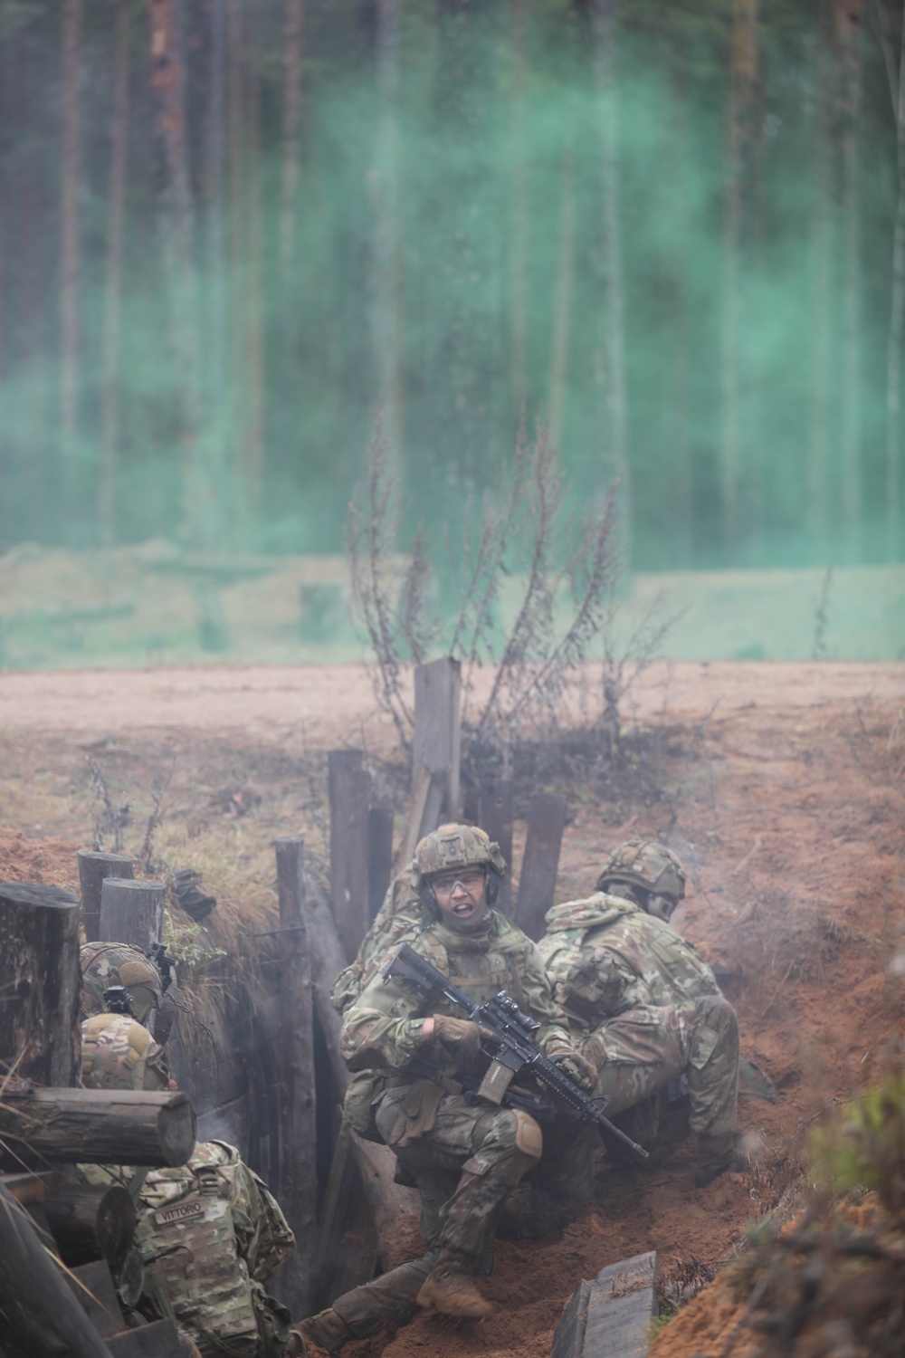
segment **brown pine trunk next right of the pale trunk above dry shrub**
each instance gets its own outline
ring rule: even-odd
[[[739,319],[742,312],[742,220],[752,182],[753,111],[757,80],[758,0],[734,0],[729,75],[729,147],[723,225],[723,546],[738,532],[739,481]]]

